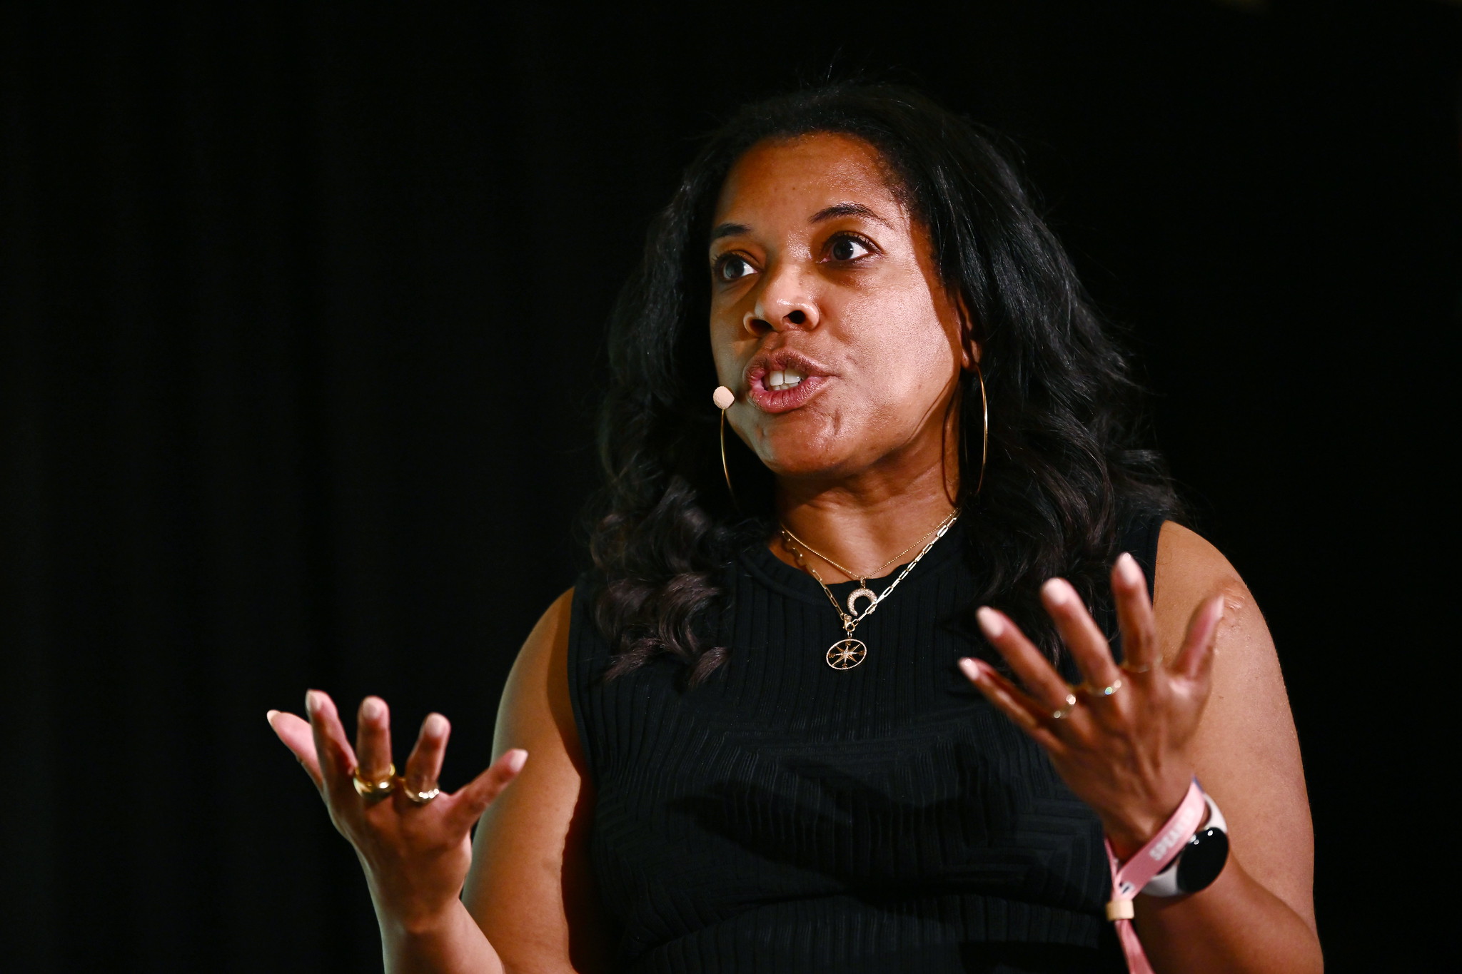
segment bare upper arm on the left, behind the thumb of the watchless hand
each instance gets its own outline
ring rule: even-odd
[[[528,751],[474,837],[463,901],[507,970],[602,968],[588,860],[594,793],[569,689],[573,590],[548,606],[503,688],[494,755]]]

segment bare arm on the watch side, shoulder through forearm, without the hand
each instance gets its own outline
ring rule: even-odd
[[[1193,606],[1216,594],[1227,603],[1190,753],[1228,819],[1231,851],[1208,889],[1137,898],[1143,948],[1156,971],[1319,971],[1314,832],[1269,628],[1228,559],[1186,527],[1164,524],[1156,578],[1154,613],[1170,660]]]

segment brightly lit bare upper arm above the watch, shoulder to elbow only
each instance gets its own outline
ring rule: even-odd
[[[1224,809],[1234,856],[1314,927],[1314,832],[1300,740],[1269,626],[1228,559],[1168,521],[1158,540],[1154,615],[1164,656],[1183,645],[1193,612],[1224,596],[1213,680],[1193,743],[1203,787]]]

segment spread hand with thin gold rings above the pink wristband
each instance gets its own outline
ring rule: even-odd
[[[1118,666],[1096,622],[1063,578],[1041,588],[1082,673],[1067,686],[1009,616],[980,609],[985,638],[1025,689],[988,663],[961,660],[965,676],[1051,756],[1067,787],[1101,818],[1118,859],[1142,848],[1177,810],[1193,778],[1189,742],[1208,701],[1222,596],[1199,605],[1183,648],[1162,659],[1148,586],[1132,555],[1111,572],[1126,659]]]

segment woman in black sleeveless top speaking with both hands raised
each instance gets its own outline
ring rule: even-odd
[[[354,749],[319,691],[269,716],[389,970],[1320,968],[1265,622],[987,137],[890,88],[743,110],[611,350],[595,570],[497,764],[437,794],[439,714],[402,778],[379,698]]]

